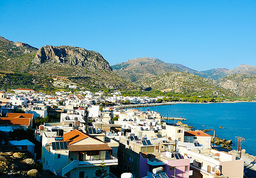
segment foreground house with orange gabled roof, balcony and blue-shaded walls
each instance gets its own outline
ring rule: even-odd
[[[112,156],[112,149],[108,144],[79,130],[65,133],[63,137],[53,136],[46,143],[43,139],[42,142],[45,145],[42,149],[43,169],[49,169],[63,177],[97,177],[102,161],[107,173],[109,166],[118,164],[118,159]]]

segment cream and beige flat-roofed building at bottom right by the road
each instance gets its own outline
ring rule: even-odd
[[[219,171],[221,177],[243,178],[244,160],[214,149],[183,149],[184,155],[190,158],[191,178],[214,178]]]

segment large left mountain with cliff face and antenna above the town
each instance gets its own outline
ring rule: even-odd
[[[36,90],[55,90],[71,84],[88,90],[133,87],[112,72],[98,52],[52,45],[37,49],[3,37],[0,37],[0,72],[0,87],[23,86],[28,81],[27,87]]]

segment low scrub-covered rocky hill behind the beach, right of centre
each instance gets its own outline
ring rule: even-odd
[[[175,93],[204,93],[207,95],[227,96],[234,95],[229,89],[217,84],[213,79],[203,78],[184,72],[170,72],[158,77],[139,82],[141,87],[151,87],[155,90],[171,91]]]

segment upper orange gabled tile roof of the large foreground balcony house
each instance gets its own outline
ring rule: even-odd
[[[68,133],[63,134],[63,141],[67,141],[68,145],[74,144],[78,141],[84,140],[89,136],[79,130],[72,130]]]

